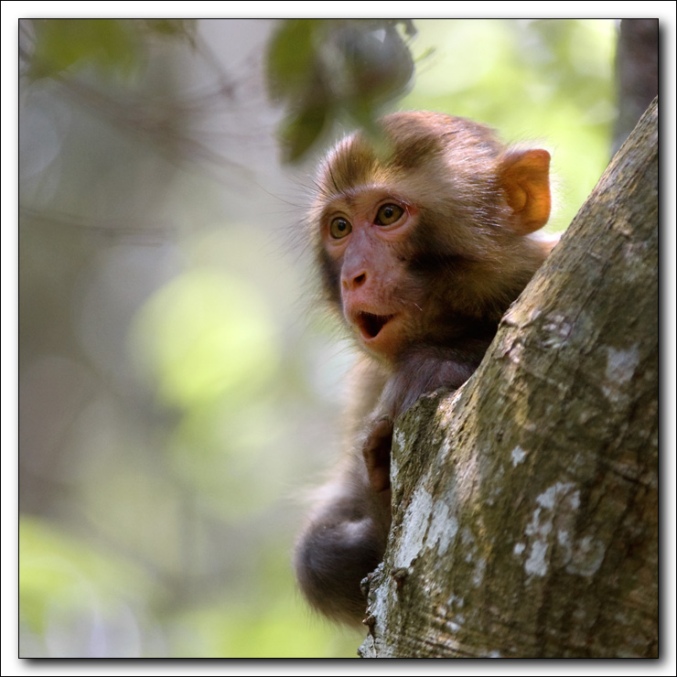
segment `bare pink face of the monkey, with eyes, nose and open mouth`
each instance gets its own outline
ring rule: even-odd
[[[321,240],[350,328],[387,360],[412,340],[423,299],[403,262],[418,209],[383,188],[359,188],[328,204]]]

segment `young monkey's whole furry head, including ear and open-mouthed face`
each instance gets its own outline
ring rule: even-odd
[[[441,113],[381,124],[385,149],[352,134],[328,154],[309,222],[332,302],[394,365],[414,345],[494,330],[543,261],[528,236],[550,214],[550,155]]]

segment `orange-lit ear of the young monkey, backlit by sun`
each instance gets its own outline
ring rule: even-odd
[[[550,153],[512,150],[501,158],[500,183],[519,235],[538,231],[550,218]]]

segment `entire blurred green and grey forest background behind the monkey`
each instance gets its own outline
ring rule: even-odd
[[[390,110],[553,155],[562,230],[607,166],[610,20],[416,20]],[[349,343],[303,242],[268,20],[19,24],[22,657],[350,657],[290,553],[339,452]],[[343,119],[328,133],[342,134]]]

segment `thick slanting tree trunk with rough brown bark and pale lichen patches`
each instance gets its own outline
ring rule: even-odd
[[[658,103],[476,374],[398,422],[364,657],[658,655]]]

